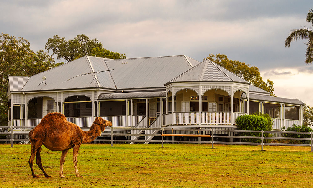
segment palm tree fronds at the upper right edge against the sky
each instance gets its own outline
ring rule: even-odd
[[[312,24],[313,26],[313,9],[309,10],[306,21]],[[303,27],[302,29],[293,29],[291,30],[289,36],[285,40],[285,47],[290,47],[290,43],[296,40],[306,40],[309,41],[305,43],[308,47],[306,48],[305,53],[305,63],[311,64],[313,61],[313,31],[312,28]]]

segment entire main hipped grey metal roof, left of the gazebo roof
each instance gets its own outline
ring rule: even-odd
[[[10,76],[9,88],[11,92],[83,88],[163,88],[163,84],[168,80],[198,63],[200,62],[184,55],[118,60],[84,56],[31,77]],[[105,72],[78,76],[97,71]],[[44,76],[46,85],[42,83]]]

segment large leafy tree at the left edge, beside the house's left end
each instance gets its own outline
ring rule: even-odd
[[[8,75],[32,76],[55,67],[53,57],[43,50],[33,52],[23,37],[0,35],[0,124],[7,125]]]

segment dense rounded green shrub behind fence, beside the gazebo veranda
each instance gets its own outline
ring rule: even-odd
[[[243,115],[236,119],[236,124],[239,130],[250,131],[271,131],[273,122],[269,116],[262,113],[258,115]],[[240,136],[261,136],[262,133],[255,132],[240,132]],[[263,136],[270,137],[270,133],[264,133]],[[242,142],[261,142],[261,139],[256,138],[243,138]],[[264,140],[264,142],[270,142],[270,140]]]

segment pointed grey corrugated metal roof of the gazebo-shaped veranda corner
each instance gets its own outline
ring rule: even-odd
[[[188,82],[188,81],[208,81],[208,82],[239,82],[250,84],[248,81],[219,66],[218,64],[206,59],[197,66],[182,73],[178,77],[166,83]]]

